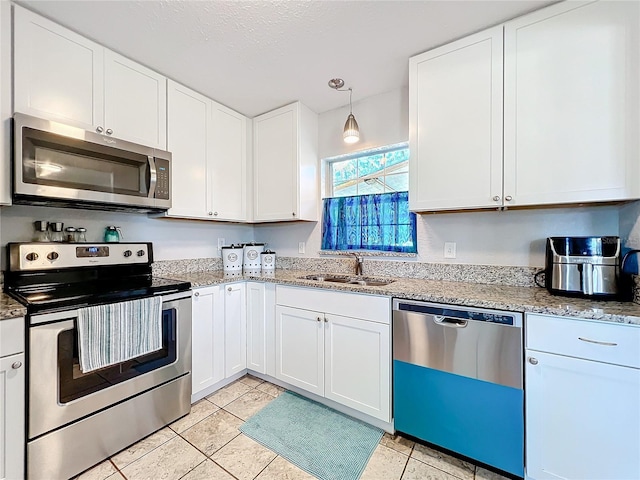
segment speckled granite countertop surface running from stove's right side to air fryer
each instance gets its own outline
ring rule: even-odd
[[[466,305],[515,312],[543,313],[580,317],[607,322],[640,325],[640,305],[633,302],[595,302],[587,299],[551,295],[544,288],[509,287],[480,283],[445,282],[417,278],[385,277],[393,280],[381,287],[347,285],[332,282],[305,280],[300,277],[317,274],[302,270],[276,270],[275,273],[256,273],[226,276],[222,271],[164,274],[165,277],[186,280],[194,288],[218,285],[241,280],[317,287],[331,290],[385,295],[409,300],[422,300],[454,305]],[[324,274],[328,275],[328,274]],[[367,278],[366,276],[363,278]],[[382,277],[379,277],[382,278]]]

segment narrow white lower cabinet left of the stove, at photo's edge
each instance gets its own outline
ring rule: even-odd
[[[24,319],[0,320],[0,480],[24,478]]]

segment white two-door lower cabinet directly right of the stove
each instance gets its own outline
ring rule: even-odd
[[[194,289],[191,399],[247,368],[244,283]]]

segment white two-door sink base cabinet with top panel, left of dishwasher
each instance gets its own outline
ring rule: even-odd
[[[391,420],[387,297],[276,287],[276,374],[283,382]]]

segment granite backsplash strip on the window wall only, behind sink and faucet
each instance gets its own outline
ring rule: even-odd
[[[355,271],[355,259],[277,257],[276,266],[284,270],[351,274]],[[541,267],[423,263],[368,258],[365,258],[363,263],[363,274],[365,275],[483,283],[486,285],[510,285],[515,287],[535,287],[533,276],[540,269]]]

